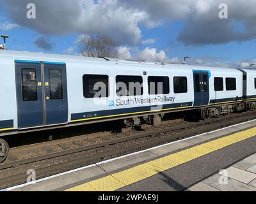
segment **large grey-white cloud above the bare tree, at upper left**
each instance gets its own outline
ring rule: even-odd
[[[122,6],[116,0],[34,0],[36,19],[29,20],[24,10],[29,0],[0,0],[15,22],[48,35],[108,34],[118,45],[135,45],[141,41],[139,24],[150,22],[146,11]]]

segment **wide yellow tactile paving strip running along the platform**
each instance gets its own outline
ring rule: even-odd
[[[162,171],[169,170],[180,164],[187,163],[198,157],[223,149],[234,143],[252,138],[255,135],[256,128],[247,129],[239,133],[234,133],[223,138],[182,150],[175,154],[155,159],[148,163],[134,166],[128,170],[120,171],[101,179],[86,182],[85,184],[72,187],[66,191],[115,191],[130,184],[134,184],[135,182],[152,177]]]

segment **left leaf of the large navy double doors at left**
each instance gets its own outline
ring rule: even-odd
[[[40,62],[15,62],[19,128],[42,126],[43,97]]]

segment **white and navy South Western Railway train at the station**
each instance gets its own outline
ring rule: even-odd
[[[95,102],[97,82],[108,91]],[[120,96],[118,82],[141,90]],[[256,108],[256,71],[0,50],[0,98],[0,136],[109,120],[157,124],[185,110],[207,119]]]

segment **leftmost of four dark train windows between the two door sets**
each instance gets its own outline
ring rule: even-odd
[[[109,96],[108,75],[83,75],[84,98]]]

